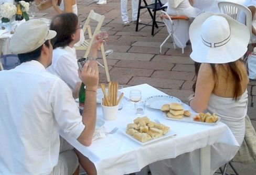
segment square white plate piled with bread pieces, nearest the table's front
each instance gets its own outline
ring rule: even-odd
[[[126,128],[121,130],[121,133],[141,145],[176,135],[170,127],[152,122],[146,116],[134,119],[133,123],[127,124]]]

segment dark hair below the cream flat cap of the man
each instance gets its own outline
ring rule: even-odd
[[[49,40],[45,41],[45,45],[48,48],[50,47]],[[20,63],[31,61],[31,60],[38,60],[38,58],[41,55],[41,50],[42,50],[42,46],[40,46],[36,50],[33,50],[31,52],[28,52],[28,53],[20,53],[20,54],[18,54],[18,58],[19,58]]]

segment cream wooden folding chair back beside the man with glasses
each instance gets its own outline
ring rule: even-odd
[[[89,40],[90,40],[88,48],[86,50],[86,54],[84,55],[84,57],[88,56],[90,48],[92,46],[93,38],[95,37],[95,35],[97,35],[100,32],[100,28],[103,24],[104,19],[105,19],[104,15],[95,13],[94,10],[91,10],[91,12],[89,13],[86,23],[84,23],[84,26],[83,26],[84,35],[86,35],[86,33],[87,33],[89,36]],[[97,24],[96,28],[94,29],[94,31],[92,32],[91,23],[94,21],[97,21],[98,24]]]

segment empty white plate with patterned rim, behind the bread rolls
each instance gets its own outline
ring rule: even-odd
[[[146,106],[156,110],[160,110],[164,104],[168,104],[168,103],[181,104],[182,101],[180,101],[178,98],[174,96],[166,96],[166,95],[156,95],[156,96],[148,97],[146,99]]]

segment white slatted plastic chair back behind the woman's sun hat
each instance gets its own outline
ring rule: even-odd
[[[228,16],[230,16],[233,19],[236,19],[240,23],[244,21],[244,25],[247,26],[250,35],[252,36],[252,27],[251,27],[251,21],[252,21],[252,14],[251,10],[243,5],[231,3],[231,2],[219,2],[218,3],[219,9],[221,13],[224,13]],[[245,19],[241,19],[245,18]]]

